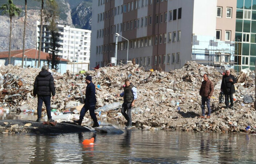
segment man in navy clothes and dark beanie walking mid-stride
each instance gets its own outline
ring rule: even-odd
[[[81,109],[79,120],[75,120],[74,123],[81,125],[83,121],[83,117],[85,113],[89,110],[91,119],[93,120],[94,124],[92,128],[99,127],[97,117],[95,115],[95,105],[96,105],[96,96],[95,96],[95,85],[91,82],[91,76],[85,77],[85,82],[87,84],[86,92],[85,92],[85,103],[83,108]]]

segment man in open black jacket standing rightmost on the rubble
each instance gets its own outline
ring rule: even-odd
[[[236,83],[235,77],[230,74],[230,70],[226,70],[225,75],[222,77],[222,82],[220,87],[220,90],[225,95],[226,108],[229,108],[229,107],[231,109],[234,108],[233,93],[236,93],[235,85],[234,85],[235,83]],[[228,99],[230,99],[230,105],[229,105]]]

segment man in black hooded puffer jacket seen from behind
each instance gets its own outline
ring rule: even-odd
[[[55,87],[54,87],[54,79],[51,75],[51,72],[48,72],[49,67],[44,65],[42,67],[42,71],[39,72],[38,76],[36,76],[34,83],[33,95],[36,97],[38,95],[38,119],[37,122],[41,121],[42,115],[42,105],[43,102],[46,105],[46,112],[49,122],[54,122],[51,116],[51,95],[52,99],[55,98]]]

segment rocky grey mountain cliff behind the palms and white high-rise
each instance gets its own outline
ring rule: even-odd
[[[69,24],[71,27],[91,29],[91,0],[85,0],[79,3],[77,7],[70,7],[70,1],[57,0],[60,8],[60,20],[59,23]],[[12,19],[12,41],[11,50],[22,49],[23,47],[23,29],[24,29],[24,1],[13,0],[13,2],[20,8],[23,8],[23,13],[20,17],[13,17]],[[3,5],[4,1],[0,1],[0,5]],[[81,10],[81,11],[79,11]],[[71,17],[72,15],[72,17]],[[40,2],[31,1],[28,2],[28,14],[27,14],[27,30],[26,30],[26,42],[25,48],[36,47],[36,21],[40,21]],[[75,25],[73,25],[73,23]],[[8,16],[0,16],[0,52],[9,50],[9,29],[10,20]]]

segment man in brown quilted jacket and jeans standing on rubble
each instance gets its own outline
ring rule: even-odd
[[[202,116],[200,116],[199,118],[204,119],[205,117],[204,106],[206,102],[206,105],[208,108],[208,116],[206,117],[206,119],[209,119],[211,115],[210,98],[212,97],[212,94],[214,91],[214,84],[208,78],[208,74],[204,74],[203,78],[204,78],[204,81],[202,81],[202,85],[199,92],[200,96],[202,96],[202,104],[201,104]]]

